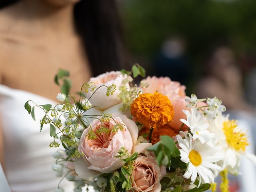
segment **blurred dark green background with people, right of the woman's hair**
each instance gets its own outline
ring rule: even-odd
[[[187,95],[220,98],[255,153],[256,1],[120,0],[119,6],[132,62],[147,75],[181,82]],[[255,190],[251,165],[242,160],[244,175],[230,178],[231,192]]]

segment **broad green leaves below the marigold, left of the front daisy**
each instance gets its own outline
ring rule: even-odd
[[[148,150],[154,151],[159,166],[167,166],[169,169],[172,164],[171,158],[180,155],[174,140],[169,136],[160,136],[160,141],[148,148]]]

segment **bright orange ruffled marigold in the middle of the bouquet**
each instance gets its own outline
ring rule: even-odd
[[[140,94],[131,104],[131,113],[148,128],[156,128],[172,121],[174,110],[167,96],[155,92]]]

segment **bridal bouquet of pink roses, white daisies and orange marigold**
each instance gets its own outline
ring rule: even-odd
[[[132,71],[112,71],[90,78],[78,93],[68,94],[68,72],[55,81],[62,93],[56,106],[32,101],[25,108],[35,120],[44,110],[41,130],[48,128],[57,176],[74,182],[74,192],[93,186],[99,192],[222,192],[227,174],[237,175],[246,153],[246,134],[237,121],[222,114],[218,98],[198,99],[168,77],[147,77],[138,64]],[[133,78],[132,78],[133,76]],[[30,104],[33,105],[31,106]],[[62,181],[61,179],[61,181]],[[56,192],[63,192],[59,183]]]

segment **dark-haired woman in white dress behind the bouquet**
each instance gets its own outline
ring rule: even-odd
[[[55,104],[58,69],[70,71],[75,93],[90,76],[119,70],[122,53],[114,0],[1,0],[0,162],[12,192],[53,192],[61,179],[49,130],[39,133],[26,100]]]

